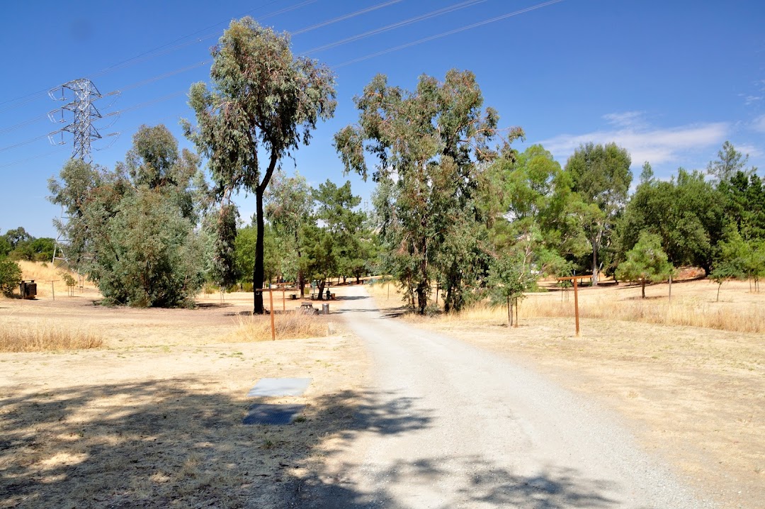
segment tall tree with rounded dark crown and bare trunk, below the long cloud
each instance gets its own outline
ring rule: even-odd
[[[592,284],[597,285],[600,266],[597,257],[610,242],[610,234],[621,210],[627,204],[632,172],[627,150],[615,143],[581,145],[566,162],[572,189],[585,204],[584,231],[592,248]],[[594,207],[592,206],[594,205]]]

